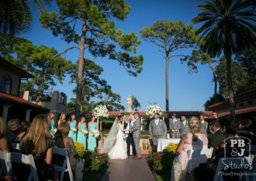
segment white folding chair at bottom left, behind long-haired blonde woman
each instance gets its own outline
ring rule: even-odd
[[[36,166],[35,166],[35,161],[34,157],[32,155],[24,155],[20,154],[17,152],[7,152],[4,151],[4,160],[6,164],[6,169],[7,169],[7,176],[12,176],[12,180],[15,180],[15,175],[13,173],[13,168],[12,168],[12,163],[20,163],[20,164],[25,164],[29,166],[30,168],[30,173],[28,180],[33,180],[33,181],[38,181],[38,175],[36,173]]]

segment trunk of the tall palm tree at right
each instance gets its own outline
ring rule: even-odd
[[[228,45],[227,45],[228,46]],[[226,47],[228,49],[228,47]],[[225,51],[225,57],[227,62],[227,80],[228,80],[228,104],[230,110],[230,117],[234,119],[235,115],[235,104],[234,104],[234,91],[232,83],[232,71],[231,71],[231,52],[230,50]]]

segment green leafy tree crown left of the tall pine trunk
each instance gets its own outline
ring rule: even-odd
[[[56,85],[56,80],[62,83],[65,75],[74,68],[71,61],[61,57],[52,60],[52,56],[58,52],[44,45],[36,47],[30,42],[24,42],[14,45],[13,52],[17,54],[17,60],[13,59],[13,63],[35,75],[33,83],[37,85],[37,90],[48,89],[46,83]]]

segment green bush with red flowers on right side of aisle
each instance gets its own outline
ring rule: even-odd
[[[177,154],[172,152],[155,152],[148,154],[147,160],[151,170],[156,173],[170,173],[172,170],[172,163]]]

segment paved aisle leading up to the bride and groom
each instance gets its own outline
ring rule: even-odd
[[[109,161],[109,168],[104,173],[101,181],[155,181],[154,175],[147,164],[147,155],[142,159],[116,159]]]

